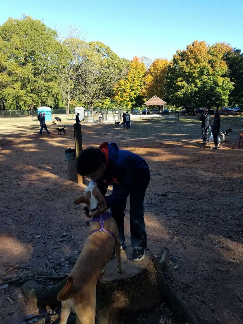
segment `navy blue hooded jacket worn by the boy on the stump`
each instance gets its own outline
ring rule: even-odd
[[[120,150],[116,143],[105,142],[99,149],[106,156],[106,170],[102,180],[97,180],[101,193],[105,196],[108,185],[116,187],[116,192],[105,197],[110,208],[121,198],[136,190],[146,188],[150,180],[149,167],[139,155],[130,151]]]

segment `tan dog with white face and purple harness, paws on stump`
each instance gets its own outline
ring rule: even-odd
[[[74,203],[86,203],[90,216],[97,215],[98,203],[105,198],[97,188],[95,181],[91,181],[84,195],[77,198]],[[71,309],[77,316],[76,323],[95,324],[96,284],[100,273],[110,260],[114,246],[117,257],[117,271],[122,273],[121,248],[118,239],[118,227],[113,217],[104,220],[104,231],[100,222],[90,223],[89,236],[84,244],[78,260],[68,276],[67,283],[59,292],[57,299],[62,301],[60,324],[66,324]],[[97,230],[97,231],[96,231]],[[95,231],[94,233],[91,233]],[[115,237],[110,234],[110,231]]]

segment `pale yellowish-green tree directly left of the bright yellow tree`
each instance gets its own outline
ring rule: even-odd
[[[89,42],[75,66],[73,96],[87,103],[102,102],[113,95],[114,85],[125,77],[129,61],[119,58],[109,46]]]

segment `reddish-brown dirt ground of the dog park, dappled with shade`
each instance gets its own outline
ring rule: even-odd
[[[5,279],[47,273],[46,259],[58,275],[69,272],[87,237],[87,219],[73,204],[83,189],[66,174],[64,149],[74,147],[73,122],[65,121],[64,136],[52,125],[50,135],[45,130],[39,135],[39,127],[38,121],[0,123],[0,273]],[[165,276],[198,323],[243,322],[243,147],[238,145],[243,125],[225,118],[222,129],[228,128],[234,130],[228,143],[210,150],[201,145],[200,123],[192,120],[148,118],[134,121],[129,130],[82,124],[84,148],[116,142],[147,161],[148,248],[158,256],[168,247]],[[129,205],[125,233],[129,242]],[[6,273],[9,264],[28,269]],[[42,282],[55,284],[51,279]],[[0,323],[18,324],[30,314],[43,317],[55,311],[39,310],[20,285],[0,288]],[[161,308],[154,307],[124,317],[123,323],[178,323],[173,315],[163,318]]]

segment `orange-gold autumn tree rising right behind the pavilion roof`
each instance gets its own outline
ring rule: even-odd
[[[148,74],[145,77],[145,85],[142,91],[143,97],[151,98],[156,95],[161,99],[165,98],[168,64],[167,59],[155,59],[150,65]]]

